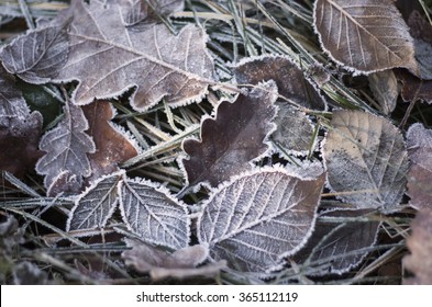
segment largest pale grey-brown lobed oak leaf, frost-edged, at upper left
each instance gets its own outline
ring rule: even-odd
[[[203,30],[187,25],[174,35],[164,24],[125,26],[122,8],[118,1],[109,5],[98,0],[71,1],[69,56],[54,81],[78,80],[74,93],[78,105],[131,88],[135,89],[131,104],[139,111],[163,98],[170,105],[199,101],[209,83],[214,83]]]

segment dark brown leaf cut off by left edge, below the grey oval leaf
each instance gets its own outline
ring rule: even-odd
[[[0,65],[0,171],[23,178],[42,156],[37,148],[42,115],[30,112],[14,84],[14,77]]]

